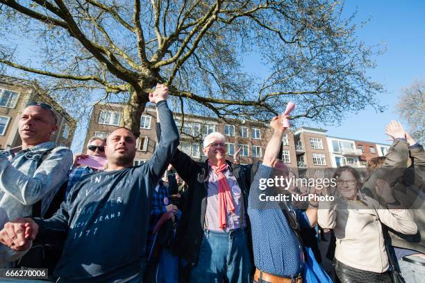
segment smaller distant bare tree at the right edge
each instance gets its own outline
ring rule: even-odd
[[[425,142],[425,77],[417,79],[401,90],[397,112],[401,120],[405,121],[410,136],[418,141]]]

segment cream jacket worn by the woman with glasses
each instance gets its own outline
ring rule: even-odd
[[[374,200],[367,197],[365,200],[367,206],[342,197],[330,208],[320,203],[317,222],[323,228],[333,229],[338,261],[353,268],[383,273],[388,269],[388,257],[381,222],[403,234],[415,234],[417,226],[406,209],[373,209],[377,207],[372,204]]]

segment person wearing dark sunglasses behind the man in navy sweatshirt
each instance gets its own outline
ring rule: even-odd
[[[106,158],[105,146],[106,138],[101,138],[100,136],[93,136],[88,141],[87,152],[85,152],[85,154],[78,154],[74,156],[74,164],[71,172],[69,172],[69,181],[67,184],[67,191],[65,193],[65,197],[68,195],[72,186],[74,186],[77,181],[80,181],[81,177],[92,172],[99,171],[89,166],[78,165],[78,161],[80,159],[86,159],[88,158],[88,156],[101,156]]]

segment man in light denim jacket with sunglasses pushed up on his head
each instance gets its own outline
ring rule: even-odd
[[[56,122],[49,104],[28,103],[18,121],[22,146],[0,152],[0,207],[10,219],[44,216],[67,180],[72,152],[50,141]]]

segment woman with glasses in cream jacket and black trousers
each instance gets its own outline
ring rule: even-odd
[[[405,209],[380,207],[362,195],[354,168],[342,166],[333,178],[335,201],[319,204],[317,220],[336,236],[336,282],[392,282],[381,223],[403,234],[415,234],[415,223]]]

